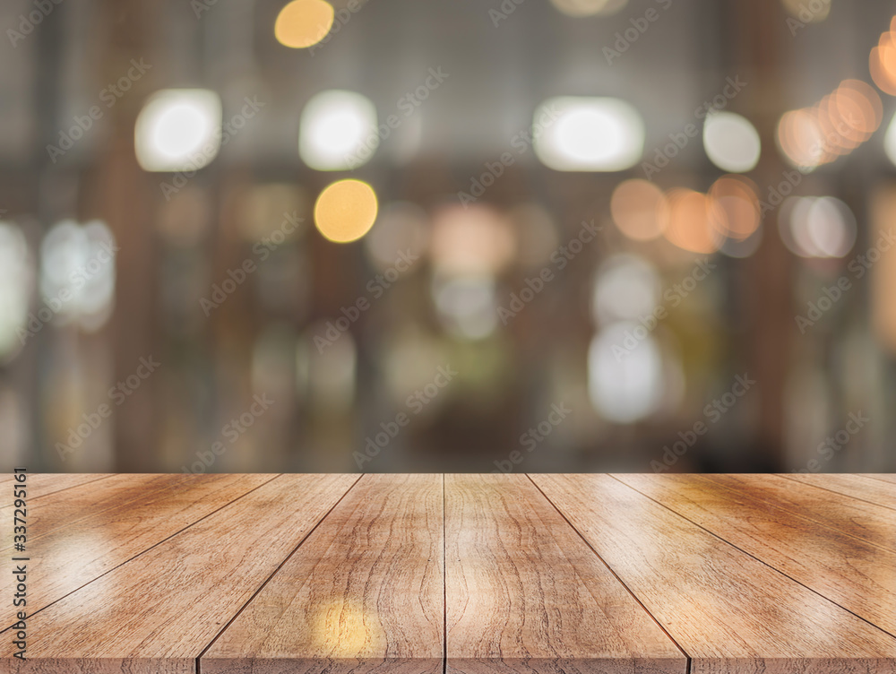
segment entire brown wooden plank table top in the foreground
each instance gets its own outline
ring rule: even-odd
[[[896,674],[892,476],[27,484],[3,674]]]

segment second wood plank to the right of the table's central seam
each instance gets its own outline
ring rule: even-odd
[[[896,639],[607,475],[533,475],[694,674],[893,674]]]

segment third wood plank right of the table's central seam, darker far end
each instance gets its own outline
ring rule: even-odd
[[[616,477],[896,635],[896,513],[891,510],[774,475]],[[776,483],[780,488],[774,488]],[[821,495],[817,503],[816,493]],[[774,506],[770,494],[780,497],[782,506]],[[800,506],[801,499],[805,506]],[[838,499],[844,503],[838,504]],[[888,547],[849,535],[849,523],[854,523],[857,531],[874,531],[869,523],[872,515],[863,517],[874,508],[888,515],[887,526],[876,531],[881,542],[889,541]]]

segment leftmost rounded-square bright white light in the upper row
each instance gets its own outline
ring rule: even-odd
[[[202,168],[220,150],[221,99],[207,89],[164,89],[146,101],[134,127],[146,171]]]

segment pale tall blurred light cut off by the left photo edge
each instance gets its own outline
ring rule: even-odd
[[[0,362],[22,348],[20,335],[28,321],[31,269],[22,230],[0,221]]]

